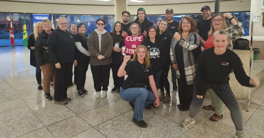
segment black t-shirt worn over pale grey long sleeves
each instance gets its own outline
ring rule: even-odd
[[[86,38],[88,38],[88,36],[86,34],[84,34],[84,36]],[[75,42],[81,42],[82,47],[84,47],[84,49],[86,49],[86,51],[88,50],[88,46],[87,46],[87,39],[85,39],[83,36],[81,36],[79,33],[75,33],[75,35],[73,36]],[[84,59],[89,59],[90,57],[87,55],[84,55],[84,53],[81,53],[77,47],[75,46],[75,54],[77,57],[77,60],[84,60]]]

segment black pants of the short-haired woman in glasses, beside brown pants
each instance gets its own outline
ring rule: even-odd
[[[55,64],[53,64],[56,73],[56,86],[54,88],[54,100],[56,101],[61,101],[67,98],[69,74],[71,73],[72,66],[72,62],[60,64],[60,68],[56,68]]]

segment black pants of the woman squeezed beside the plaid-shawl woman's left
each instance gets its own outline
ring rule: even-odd
[[[165,87],[167,94],[169,94],[168,74],[169,74],[170,66],[171,66],[170,61],[167,61],[167,63],[163,67],[163,72],[161,73],[161,76],[160,76],[160,92],[164,92],[164,87]]]

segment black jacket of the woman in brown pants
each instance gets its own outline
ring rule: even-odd
[[[51,29],[51,31],[54,31]],[[49,53],[47,53],[47,40],[49,38],[49,34],[43,31],[40,33],[38,38],[36,38],[36,44],[35,44],[35,56],[36,61],[38,62],[39,66],[43,66],[47,63],[51,63],[49,61]]]

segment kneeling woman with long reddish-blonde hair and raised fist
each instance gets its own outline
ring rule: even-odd
[[[125,82],[120,87],[120,97],[128,101],[134,111],[132,122],[139,127],[145,128],[147,124],[143,121],[144,107],[152,103],[154,103],[155,107],[160,105],[147,48],[143,45],[138,46],[133,59],[128,63],[129,60],[130,55],[125,55],[123,64],[117,73],[118,77],[128,74],[128,78],[125,79]],[[152,90],[145,88],[148,80]]]

